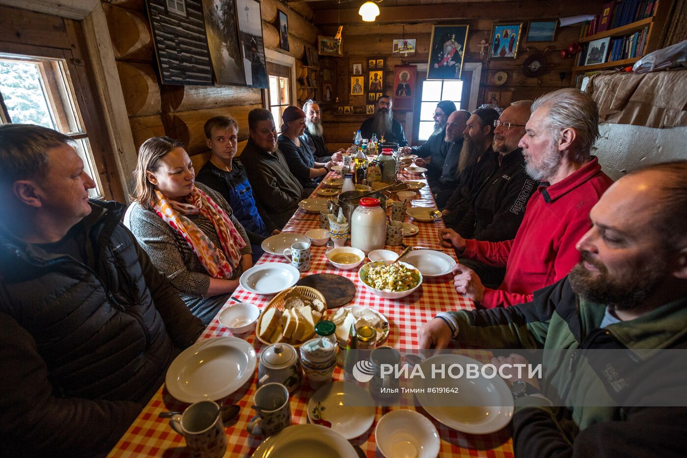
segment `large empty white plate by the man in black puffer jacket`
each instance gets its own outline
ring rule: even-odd
[[[256,351],[245,340],[215,337],[201,340],[174,358],[165,384],[181,402],[216,401],[238,390],[256,370]]]

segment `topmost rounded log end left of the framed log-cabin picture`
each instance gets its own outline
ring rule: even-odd
[[[143,13],[103,3],[115,58],[153,61],[153,33]]]

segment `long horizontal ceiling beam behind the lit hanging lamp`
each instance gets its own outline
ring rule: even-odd
[[[517,18],[539,19],[598,13],[595,0],[557,1],[521,0],[491,1],[488,3],[446,3],[442,5],[383,6],[376,23],[407,23],[418,21],[455,21],[456,19],[514,20]],[[339,23],[339,10],[317,10],[313,23],[316,25]],[[363,23],[358,7],[340,10],[340,23]]]

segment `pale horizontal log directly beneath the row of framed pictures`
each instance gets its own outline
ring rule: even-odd
[[[193,111],[208,108],[257,105],[262,101],[260,89],[240,86],[180,86],[161,87],[162,111]]]

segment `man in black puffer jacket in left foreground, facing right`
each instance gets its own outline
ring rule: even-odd
[[[8,456],[109,450],[203,331],[71,140],[0,126],[0,444]]]

